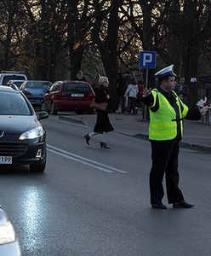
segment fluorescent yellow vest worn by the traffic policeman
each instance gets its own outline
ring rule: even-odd
[[[175,96],[176,104],[179,107],[180,113],[180,129],[181,136],[183,135],[183,119],[188,112],[188,107],[180,100],[180,97],[172,91]],[[177,121],[176,112],[171,104],[168,102],[167,98],[163,96],[157,89],[151,91],[154,97],[154,103],[149,108],[150,109],[150,130],[149,138],[151,140],[163,141],[171,140],[177,136]],[[156,112],[151,111],[157,102],[159,101],[159,108]],[[182,106],[182,108],[181,108]],[[181,110],[182,109],[182,110]]]

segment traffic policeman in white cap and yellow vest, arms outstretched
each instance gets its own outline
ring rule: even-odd
[[[143,90],[142,100],[150,111],[149,139],[151,142],[150,192],[151,207],[163,205],[163,176],[165,174],[168,203],[174,208],[191,208],[179,188],[178,156],[183,135],[183,119],[200,119],[208,108],[188,108],[174,92],[174,65],[156,73],[158,86]]]

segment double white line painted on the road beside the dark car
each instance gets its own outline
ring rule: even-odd
[[[63,155],[63,156],[68,156],[68,158],[70,158],[71,160],[77,160],[78,162],[82,162],[83,164],[86,164],[88,166],[93,166],[94,168],[98,168],[104,172],[120,172],[120,173],[128,173],[128,172],[125,172],[123,170],[119,170],[115,167],[111,167],[111,166],[107,166],[105,164],[101,164],[99,162],[96,162],[94,160],[89,160],[88,158],[85,158],[81,155],[78,155],[78,154],[72,154],[66,150],[63,150],[63,149],[60,149],[60,148],[56,148],[54,146],[51,146],[51,145],[47,145],[47,148],[49,151],[51,150],[54,150],[54,153],[60,153],[60,155]],[[53,152],[53,151],[52,151]],[[106,170],[106,171],[105,171]]]

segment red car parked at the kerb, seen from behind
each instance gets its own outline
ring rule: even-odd
[[[41,108],[53,114],[62,110],[74,110],[76,113],[84,113],[85,111],[93,113],[90,103],[94,96],[94,90],[87,82],[57,81],[44,96]]]

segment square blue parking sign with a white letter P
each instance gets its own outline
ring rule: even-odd
[[[156,68],[156,51],[140,51],[140,68]]]

